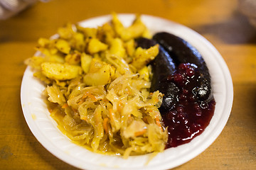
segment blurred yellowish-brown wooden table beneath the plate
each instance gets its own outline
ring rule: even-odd
[[[21,110],[23,61],[67,22],[117,13],[144,13],[181,23],[207,38],[223,56],[234,85],[233,109],[213,145],[176,169],[256,169],[256,28],[235,0],[68,1],[37,3],[0,21],[0,169],[75,169],[33,136]]]

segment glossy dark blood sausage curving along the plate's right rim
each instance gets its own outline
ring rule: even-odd
[[[212,98],[210,86],[210,74],[201,54],[190,43],[182,38],[178,38],[171,33],[156,33],[153,40],[159,43],[174,60],[176,66],[181,63],[191,63],[196,65],[199,72],[198,87],[193,89],[200,101],[208,101]]]

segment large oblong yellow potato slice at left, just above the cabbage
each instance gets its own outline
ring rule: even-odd
[[[41,64],[41,69],[46,77],[57,80],[74,79],[82,72],[81,67],[79,66],[53,62],[43,62]]]

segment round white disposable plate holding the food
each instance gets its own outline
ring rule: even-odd
[[[96,27],[110,21],[111,16],[101,16],[80,22],[81,26]],[[119,15],[124,26],[134,20],[132,14]],[[146,164],[149,154],[122,159],[117,156],[95,154],[70,142],[50,118],[41,93],[45,86],[33,77],[28,67],[21,84],[21,104],[29,128],[49,152],[80,169],[171,169],[196,157],[209,147],[220,135],[228,121],[233,104],[233,83],[227,65],[219,52],[205,38],[195,31],[177,23],[154,16],[142,16],[142,21],[152,33],[166,31],[190,42],[203,55],[212,77],[213,95],[216,101],[215,113],[206,130],[191,142],[166,149]],[[221,151],[220,151],[221,152]]]

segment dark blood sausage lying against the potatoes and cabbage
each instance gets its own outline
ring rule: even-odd
[[[156,45],[156,41],[146,38],[139,38],[137,40],[137,47],[149,48]],[[159,90],[164,94],[163,103],[159,108],[161,114],[165,114],[170,111],[171,108],[178,101],[178,87],[173,82],[168,81],[170,74],[174,74],[176,66],[171,59],[170,55],[164,50],[161,45],[159,46],[159,55],[150,62],[152,67],[153,76],[151,79],[151,92]]]

